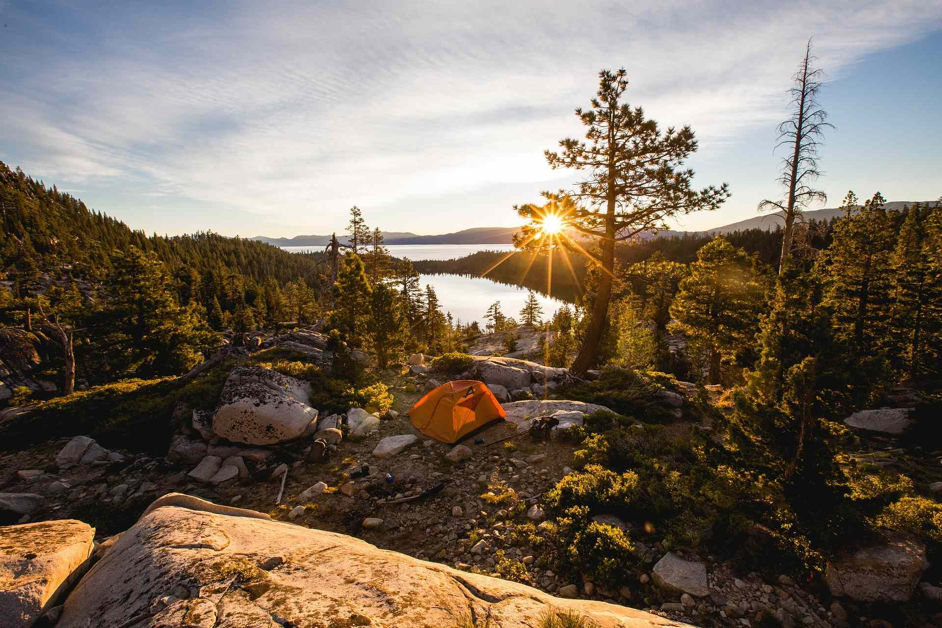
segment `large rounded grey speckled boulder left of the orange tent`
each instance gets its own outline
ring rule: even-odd
[[[310,386],[260,366],[233,369],[213,415],[213,431],[234,443],[272,444],[299,438],[317,421]]]

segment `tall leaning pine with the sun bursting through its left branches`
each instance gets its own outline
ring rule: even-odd
[[[592,108],[577,108],[579,121],[587,127],[586,140],[565,138],[559,153],[546,152],[553,169],[584,169],[588,176],[572,198],[577,207],[566,223],[598,242],[601,254],[590,253],[604,269],[595,294],[585,338],[573,370],[577,375],[592,368],[598,358],[605,321],[609,315],[614,279],[615,244],[637,234],[665,227],[665,219],[690,212],[716,209],[729,196],[727,185],[696,191],[693,170],[682,169],[697,149],[690,127],[661,132],[658,123],[647,120],[641,107],[622,102],[627,89],[625,69],[599,72],[599,89]],[[560,195],[545,195],[547,198]],[[534,205],[516,208],[530,220],[542,219],[544,210]],[[540,227],[524,230],[525,239]]]

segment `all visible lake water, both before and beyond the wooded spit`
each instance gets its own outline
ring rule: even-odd
[[[282,247],[289,252],[323,250],[323,247]],[[450,260],[470,255],[479,250],[513,250],[512,244],[395,244],[386,247],[393,257],[408,257],[410,260]],[[483,327],[484,313],[495,301],[500,301],[501,311],[519,318],[520,310],[527,299],[527,290],[514,285],[492,282],[479,277],[461,275],[422,275],[422,286],[431,284],[442,304],[442,310],[450,312],[463,323],[478,321]],[[543,306],[543,316],[548,318],[558,310],[563,301],[536,293]]]

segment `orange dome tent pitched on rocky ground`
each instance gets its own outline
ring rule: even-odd
[[[484,382],[473,379],[448,381],[419,399],[409,411],[412,424],[442,443],[457,443],[465,436],[507,412]]]

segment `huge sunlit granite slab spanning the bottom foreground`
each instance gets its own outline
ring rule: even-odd
[[[130,618],[139,618],[135,628],[418,628],[485,617],[491,628],[523,628],[551,609],[576,611],[598,628],[685,625],[616,604],[561,600],[332,532],[190,509],[200,507],[196,498],[189,507],[165,500],[82,579],[57,628],[117,628]]]

